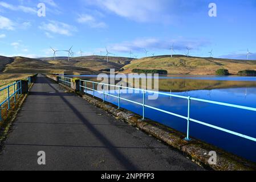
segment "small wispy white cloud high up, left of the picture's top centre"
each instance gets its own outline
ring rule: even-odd
[[[107,27],[107,24],[105,24],[104,22],[97,22],[97,20],[96,20],[96,18],[94,18],[94,16],[88,15],[88,14],[79,15],[79,18],[77,19],[77,22],[88,24],[88,26],[90,26],[92,28],[105,28],[105,27]]]

